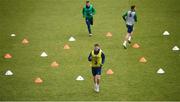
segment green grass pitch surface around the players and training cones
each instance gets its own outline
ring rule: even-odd
[[[84,0],[0,0],[0,100],[180,100],[180,0],[92,0],[97,10],[89,38],[81,9]],[[132,43],[122,47],[122,14],[137,5]],[[170,36],[162,36],[168,30]],[[113,36],[105,35],[111,32]],[[10,37],[15,33],[16,37]],[[70,36],[76,42],[68,42]],[[23,45],[27,38],[30,43]],[[99,43],[106,54],[100,93],[93,91],[87,56]],[[69,44],[71,49],[64,50]],[[47,58],[41,58],[45,51]],[[12,59],[4,59],[5,53]],[[147,63],[139,63],[144,56]],[[51,68],[57,61],[60,66]],[[159,68],[165,70],[158,75]],[[13,76],[4,76],[6,70]],[[106,75],[112,69],[113,75]],[[85,80],[76,81],[82,75]],[[43,83],[34,83],[41,77]]]

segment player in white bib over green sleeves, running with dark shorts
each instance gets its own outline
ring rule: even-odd
[[[132,37],[132,33],[133,33],[133,26],[134,23],[137,22],[137,15],[135,12],[135,5],[131,6],[131,10],[129,10],[128,12],[126,12],[122,17],[124,19],[124,21],[126,22],[126,27],[127,27],[127,34],[123,43],[123,47],[125,49],[127,49],[127,42],[130,44],[131,43],[131,37]]]

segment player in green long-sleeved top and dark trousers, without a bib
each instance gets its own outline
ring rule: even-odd
[[[82,14],[86,20],[87,28],[89,31],[89,36],[92,36],[91,25],[93,25],[93,15],[96,13],[93,5],[90,4],[90,1],[86,1],[86,5],[83,7]]]

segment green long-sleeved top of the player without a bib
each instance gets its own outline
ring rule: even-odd
[[[90,5],[88,8],[86,7],[86,5],[83,7],[82,14],[84,17],[92,18],[95,13],[96,13],[96,10],[94,9],[92,5]]]

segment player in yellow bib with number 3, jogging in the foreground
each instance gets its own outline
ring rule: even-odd
[[[88,60],[92,65],[92,75],[94,81],[94,90],[99,92],[99,84],[101,78],[101,69],[105,61],[105,54],[100,49],[99,44],[94,45],[94,50],[89,54]]]

